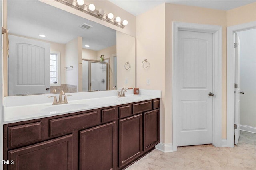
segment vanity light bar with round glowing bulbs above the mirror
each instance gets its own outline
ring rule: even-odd
[[[62,4],[68,5],[72,8],[85,12],[86,14],[90,14],[92,16],[100,18],[101,20],[104,20],[108,23],[112,23],[113,25],[116,25],[120,28],[124,28],[125,25],[128,24],[127,20],[121,21],[121,18],[119,16],[114,18],[114,14],[112,14],[111,12],[108,14],[105,14],[104,9],[100,8],[99,10],[97,10],[94,4],[89,4],[89,5],[84,4],[84,0],[55,0],[55,1],[61,2]]]

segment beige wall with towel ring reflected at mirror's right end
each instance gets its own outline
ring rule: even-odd
[[[135,56],[136,40],[130,35],[116,31],[116,84],[117,89],[135,87]],[[124,64],[129,61],[130,69],[126,70]],[[125,80],[128,84],[125,84]]]

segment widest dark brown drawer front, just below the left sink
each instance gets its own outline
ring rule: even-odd
[[[97,125],[97,111],[80,115],[52,119],[50,124],[50,137],[67,133],[75,129],[83,129]]]

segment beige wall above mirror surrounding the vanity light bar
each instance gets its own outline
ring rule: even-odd
[[[112,12],[114,14],[114,17],[120,16],[122,21],[127,20],[128,25],[126,25],[125,28],[117,27],[116,25],[113,25],[106,21],[100,20],[99,18],[96,18],[90,14],[86,14],[80,10],[76,10],[70,6],[67,6],[65,4],[62,4],[62,3],[54,1],[54,0],[40,0],[40,1],[42,1],[46,4],[50,4],[52,6],[55,6],[57,8],[60,8],[62,10],[66,10],[66,11],[76,14],[78,16],[84,17],[88,20],[100,23],[101,25],[105,25],[105,26],[115,29],[117,31],[126,33],[133,37],[136,37],[136,16],[130,14],[126,10],[123,10],[122,8],[116,6],[115,4],[113,4],[107,0],[86,0],[85,4],[89,5],[92,3],[95,5],[97,10],[102,8],[102,9],[104,9],[106,14],[108,14],[109,12]]]

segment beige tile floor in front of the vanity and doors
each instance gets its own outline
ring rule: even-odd
[[[234,148],[196,145],[171,153],[155,149],[126,170],[256,170],[256,134],[241,131]]]

